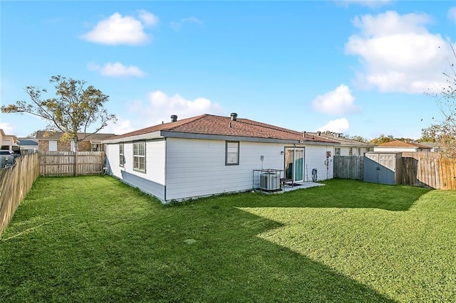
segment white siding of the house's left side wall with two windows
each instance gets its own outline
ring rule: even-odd
[[[145,173],[133,170],[133,142],[123,144],[124,166],[119,166],[119,144],[107,144],[110,174],[141,191],[165,200],[165,140],[145,144]]]

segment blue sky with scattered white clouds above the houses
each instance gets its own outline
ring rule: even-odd
[[[453,1],[1,1],[1,104],[86,80],[135,129],[204,113],[418,139],[455,58]],[[456,44],[453,44],[456,46]],[[0,114],[18,137],[44,129]],[[432,119],[434,117],[434,120]]]

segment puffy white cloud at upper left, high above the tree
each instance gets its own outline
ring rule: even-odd
[[[108,45],[138,45],[150,41],[150,36],[147,36],[144,31],[144,25],[155,25],[158,18],[147,11],[140,11],[139,14],[140,20],[134,16],[114,13],[98,22],[95,28],[85,33],[82,38],[90,42]]]

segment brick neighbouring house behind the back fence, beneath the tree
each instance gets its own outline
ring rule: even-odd
[[[62,132],[46,132],[38,130],[36,139],[38,139],[38,151],[74,151],[74,142],[62,142]],[[103,151],[103,139],[108,139],[115,134],[90,134],[83,141],[78,143],[78,151]],[[82,132],[78,133],[78,138],[83,138]]]

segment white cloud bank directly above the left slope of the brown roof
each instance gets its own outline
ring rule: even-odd
[[[162,122],[170,122],[171,115],[178,119],[193,117],[202,114],[219,115],[222,107],[204,97],[187,100],[181,95],[168,96],[165,92],[156,90],[148,95],[148,102],[132,102],[129,104],[130,112],[138,117],[135,124],[139,127],[150,127]]]

